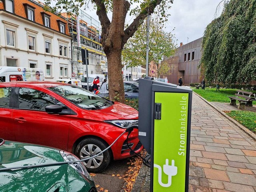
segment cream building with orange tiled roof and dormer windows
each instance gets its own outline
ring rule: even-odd
[[[0,66],[41,68],[45,80],[72,74],[65,18],[32,0],[0,0]]]

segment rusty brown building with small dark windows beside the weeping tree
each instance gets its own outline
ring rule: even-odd
[[[203,79],[200,74],[200,59],[202,56],[202,37],[176,49],[175,55],[168,58],[170,72],[167,76],[170,83],[178,84],[178,79],[182,77],[183,85],[190,83],[200,83]],[[162,77],[162,76],[161,76]]]

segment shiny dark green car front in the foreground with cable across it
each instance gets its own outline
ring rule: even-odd
[[[0,138],[0,192],[97,192],[83,162],[1,170],[75,160],[63,150]]]

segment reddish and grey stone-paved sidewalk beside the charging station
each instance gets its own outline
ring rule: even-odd
[[[256,191],[255,140],[196,94],[189,175],[189,192]],[[149,184],[150,169],[142,166],[132,192],[149,192]]]

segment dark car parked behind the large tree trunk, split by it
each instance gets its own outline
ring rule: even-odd
[[[102,84],[99,88],[99,96],[108,97],[108,83]],[[138,98],[139,97],[139,83],[133,81],[124,81],[124,96],[125,98]]]

